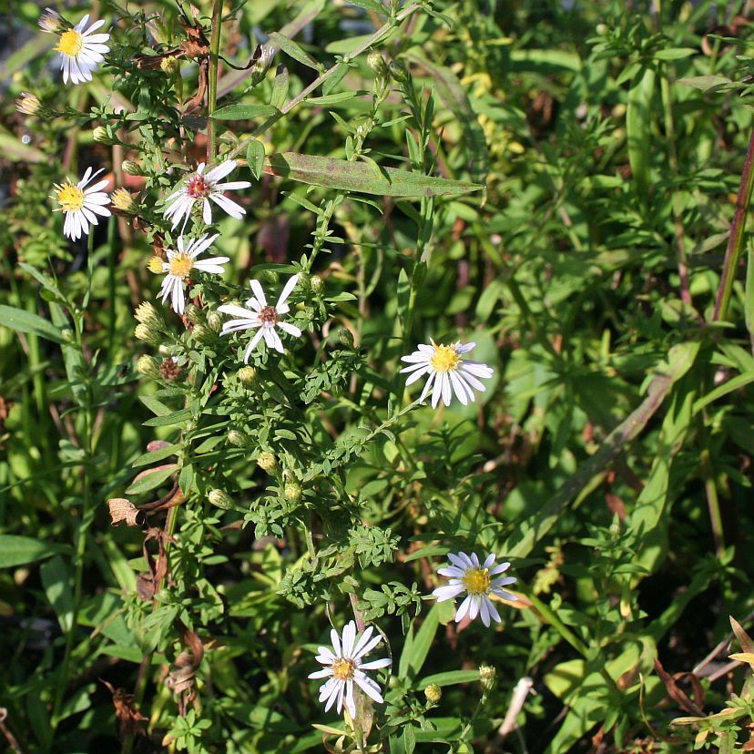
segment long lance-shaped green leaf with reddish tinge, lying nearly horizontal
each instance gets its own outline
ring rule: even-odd
[[[383,197],[452,197],[482,186],[465,180],[434,178],[374,163],[281,152],[265,159],[264,172],[325,189],[357,191]]]

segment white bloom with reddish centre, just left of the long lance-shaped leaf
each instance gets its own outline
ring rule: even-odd
[[[226,183],[219,183],[236,168],[236,161],[228,159],[221,162],[217,168],[212,168],[204,172],[205,164],[199,163],[195,173],[191,173],[186,178],[180,188],[174,191],[168,199],[165,199],[167,205],[163,214],[166,218],[173,219],[173,228],[175,228],[181,219],[183,224],[189,219],[191,209],[194,205],[202,205],[202,219],[209,225],[212,222],[212,207],[209,199],[215,202],[219,208],[224,209],[231,218],[241,219],[246,214],[239,204],[232,199],[228,199],[223,191],[232,191],[235,189],[248,189],[250,182],[248,180],[231,180]]]

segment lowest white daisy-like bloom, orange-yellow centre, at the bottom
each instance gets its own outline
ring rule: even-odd
[[[358,636],[356,624],[351,620],[343,627],[342,638],[334,628],[331,630],[332,649],[317,647],[319,652],[317,662],[326,667],[310,673],[309,678],[327,678],[320,687],[320,701],[324,702],[325,712],[334,704],[340,714],[343,702],[345,702],[349,714],[355,718],[354,684],[374,701],[380,704],[384,702],[380,687],[364,672],[364,670],[389,667],[392,664],[389,657],[363,662],[363,657],[382,641],[382,636],[379,634],[372,638],[373,630],[370,626],[361,636]]]

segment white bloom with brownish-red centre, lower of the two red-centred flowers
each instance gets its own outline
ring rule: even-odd
[[[251,280],[251,290],[254,295],[246,302],[246,305],[250,309],[244,309],[242,306],[236,306],[235,304],[223,304],[218,307],[218,311],[221,311],[223,314],[229,314],[232,317],[238,318],[229,320],[222,326],[223,335],[228,335],[229,332],[259,328],[246,347],[246,352],[243,355],[244,362],[249,363],[251,352],[257,347],[257,343],[262,338],[264,338],[268,348],[274,348],[275,351],[284,353],[280,335],[275,328],[279,327],[283,332],[287,332],[296,338],[301,337],[301,330],[296,325],[280,321],[280,317],[290,311],[290,306],[286,301],[298,281],[298,275],[293,275],[288,280],[275,306],[270,306],[267,303],[267,298],[264,295],[264,290],[262,290],[259,280]]]

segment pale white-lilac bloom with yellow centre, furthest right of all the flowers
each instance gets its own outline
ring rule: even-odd
[[[455,622],[460,623],[466,615],[471,620],[477,615],[482,616],[484,626],[490,625],[490,618],[500,623],[500,616],[494,608],[490,595],[499,596],[502,599],[517,600],[518,597],[504,591],[503,586],[515,583],[513,576],[498,576],[510,567],[510,563],[494,565],[494,554],[487,555],[486,560],[480,565],[479,558],[475,553],[471,556],[465,553],[448,553],[451,565],[440,568],[437,573],[442,576],[450,576],[446,586],[440,586],[433,591],[433,596],[438,602],[446,599],[455,599],[459,595],[466,594],[461,606],[455,611]]]

